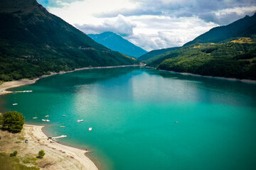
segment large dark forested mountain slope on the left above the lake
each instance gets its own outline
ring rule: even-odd
[[[139,63],[100,45],[36,0],[0,1],[0,80]]]

